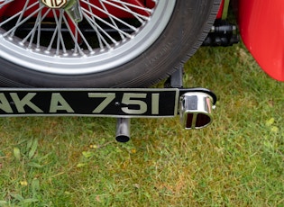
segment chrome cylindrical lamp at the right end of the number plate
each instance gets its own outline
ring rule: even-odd
[[[179,114],[186,130],[202,129],[212,121],[212,97],[202,92],[188,92],[180,97]]]

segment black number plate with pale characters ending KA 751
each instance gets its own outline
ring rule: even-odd
[[[172,117],[178,89],[0,89],[0,116]]]

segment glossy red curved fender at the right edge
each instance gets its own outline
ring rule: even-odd
[[[263,70],[284,81],[284,1],[239,0],[240,33]]]

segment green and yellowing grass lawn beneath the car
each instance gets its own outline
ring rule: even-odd
[[[215,121],[1,118],[0,206],[284,206],[284,83],[243,48],[202,48],[185,85],[215,91]]]

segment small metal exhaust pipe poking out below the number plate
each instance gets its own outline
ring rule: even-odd
[[[118,142],[130,140],[130,118],[117,118],[115,139]]]

